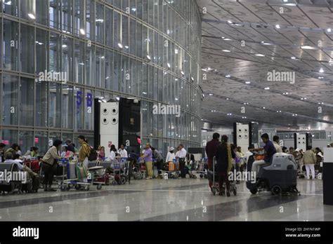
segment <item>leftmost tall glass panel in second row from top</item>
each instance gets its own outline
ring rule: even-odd
[[[4,69],[18,70],[18,23],[4,20]]]

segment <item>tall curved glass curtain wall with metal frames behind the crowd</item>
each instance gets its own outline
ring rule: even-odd
[[[201,20],[195,1],[0,2],[1,133],[5,144],[93,140],[89,100],[138,97],[142,142],[200,147]],[[181,114],[153,114],[157,104]]]

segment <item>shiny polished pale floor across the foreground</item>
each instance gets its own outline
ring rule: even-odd
[[[213,196],[207,179],[132,180],[97,191],[0,196],[2,221],[333,221],[322,204],[322,181],[299,179],[301,196],[252,195],[244,182],[237,196]]]

